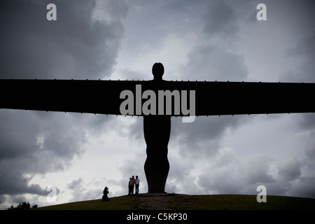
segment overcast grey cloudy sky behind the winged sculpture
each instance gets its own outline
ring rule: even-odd
[[[48,3],[56,21],[46,19]],[[256,19],[258,3],[266,21]],[[166,80],[315,83],[314,8],[311,0],[4,0],[0,78],[148,80],[162,62]],[[267,195],[314,198],[314,134],[314,113],[172,118],[166,191],[257,195],[263,185]],[[143,118],[0,110],[0,209],[93,200],[105,186],[110,197],[126,195],[132,175],[146,193],[145,160]]]

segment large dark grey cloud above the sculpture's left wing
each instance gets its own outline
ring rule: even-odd
[[[95,1],[53,1],[57,21],[48,21],[48,3],[1,1],[1,78],[109,76],[123,37],[123,13],[104,23],[94,18]]]

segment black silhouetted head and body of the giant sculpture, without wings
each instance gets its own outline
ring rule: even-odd
[[[166,90],[165,80],[162,80],[164,66],[155,63],[152,67],[154,79],[149,81],[151,90]],[[148,181],[148,193],[165,193],[165,183],[169,174],[167,160],[169,135],[171,134],[171,117],[160,115],[144,116],[144,139],[146,140],[146,162],[144,171]]]

